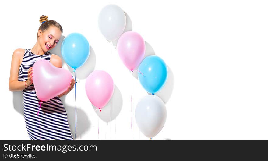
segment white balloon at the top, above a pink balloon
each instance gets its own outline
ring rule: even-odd
[[[117,5],[105,6],[98,18],[99,28],[104,37],[109,41],[118,39],[126,25],[124,11]]]

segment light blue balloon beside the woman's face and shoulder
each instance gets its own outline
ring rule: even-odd
[[[65,62],[77,69],[82,66],[89,57],[90,46],[87,39],[79,33],[66,36],[62,42],[62,57]]]

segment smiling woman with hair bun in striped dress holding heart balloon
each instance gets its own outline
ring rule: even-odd
[[[54,48],[62,36],[62,26],[48,16],[41,16],[41,26],[37,32],[37,42],[31,49],[16,49],[12,55],[9,90],[23,92],[24,120],[30,139],[73,139],[67,120],[67,113],[60,99],[72,90],[75,80],[62,94],[42,103],[33,85],[33,64],[39,59],[50,61],[55,67],[62,68],[58,55],[48,52]]]

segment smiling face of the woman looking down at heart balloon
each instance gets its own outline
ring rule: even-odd
[[[50,26],[44,32],[38,30],[38,36],[39,38],[37,41],[39,42],[43,52],[47,52],[58,44],[62,36],[62,32],[58,27]]]

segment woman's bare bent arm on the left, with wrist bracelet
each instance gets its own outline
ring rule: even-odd
[[[12,60],[11,60],[11,68],[10,68],[10,76],[9,76],[9,91],[22,91],[23,89],[30,86],[32,81],[32,67],[28,70],[28,80],[25,81],[18,81],[19,75],[19,60],[20,57],[24,54],[24,49],[16,49],[13,52]],[[26,84],[26,86],[25,86]]]

